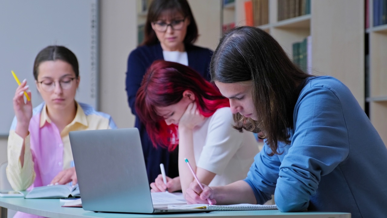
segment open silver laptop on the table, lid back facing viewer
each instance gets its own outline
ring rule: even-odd
[[[119,213],[211,211],[153,208],[137,128],[71,131],[69,137],[83,209]]]

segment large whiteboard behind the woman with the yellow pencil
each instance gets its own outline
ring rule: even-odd
[[[98,1],[0,0],[0,135],[14,118],[12,98],[27,79],[33,107],[43,99],[36,89],[33,63],[48,45],[63,45],[77,56],[80,85],[75,99],[98,106]]]

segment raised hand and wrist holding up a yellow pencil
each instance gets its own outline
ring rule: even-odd
[[[15,132],[22,138],[26,138],[28,135],[28,126],[32,118],[32,103],[27,100],[24,102],[24,91],[28,90],[27,81],[24,80],[19,87],[16,88],[15,96],[13,99],[15,116],[17,119]],[[28,97],[31,99],[31,92],[27,91]]]

